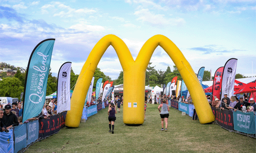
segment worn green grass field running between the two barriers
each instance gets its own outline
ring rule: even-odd
[[[229,132],[216,124],[202,125],[170,108],[168,131],[160,131],[158,104],[148,104],[146,121],[126,126],[116,114],[115,134],[108,133],[108,109],[90,116],[79,128],[34,143],[26,153],[255,153],[256,139]]]

